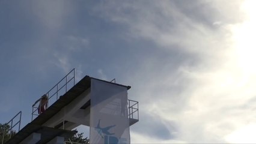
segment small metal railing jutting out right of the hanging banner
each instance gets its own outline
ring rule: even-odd
[[[139,120],[139,102],[128,100],[129,118]]]

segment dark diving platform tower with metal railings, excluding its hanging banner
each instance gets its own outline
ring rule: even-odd
[[[91,80],[120,86],[127,90],[131,88],[115,83],[115,79],[108,82],[90,76],[85,76],[75,83],[74,68],[46,93],[48,97],[46,110],[39,115],[38,104],[33,104],[31,122],[17,131],[5,144],[67,143],[70,137],[78,132],[73,130],[74,128],[79,125],[90,127]],[[61,94],[61,91],[64,94]],[[138,101],[127,100],[129,125],[139,121],[138,111]]]

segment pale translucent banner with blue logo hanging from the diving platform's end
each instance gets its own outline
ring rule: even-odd
[[[91,79],[90,143],[130,143],[126,87]]]

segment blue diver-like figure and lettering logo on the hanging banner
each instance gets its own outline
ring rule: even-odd
[[[120,137],[120,139],[118,139],[118,137],[115,136],[111,136],[115,133],[110,133],[108,130],[111,129],[112,127],[115,127],[115,125],[110,125],[108,127],[100,127],[100,119],[99,122],[97,124],[97,127],[95,127],[95,130],[100,134],[100,136],[102,137],[102,139],[104,139],[104,143],[105,144],[120,144],[120,143],[126,143],[126,139]]]

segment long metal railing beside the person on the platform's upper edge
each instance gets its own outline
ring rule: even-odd
[[[66,76],[64,76],[61,80],[59,80],[59,82],[53,86],[48,92],[46,92],[47,95],[47,101],[46,101],[46,109],[48,109],[48,107],[50,105],[52,105],[56,100],[58,100],[59,95],[63,95],[65,94],[70,88],[72,88],[70,86],[70,88],[68,88],[68,85],[70,83],[72,83],[74,86],[75,85],[75,76],[76,76],[76,70],[75,68],[73,68],[73,70],[71,70]],[[55,100],[53,100],[53,97],[56,97]],[[40,102],[38,104],[38,106],[35,106],[38,102]],[[41,105],[41,100],[37,101],[35,104],[32,105],[32,118],[31,121],[33,121],[34,116],[38,116],[39,113],[41,113],[41,107],[44,104]],[[38,114],[37,114],[38,111]]]

